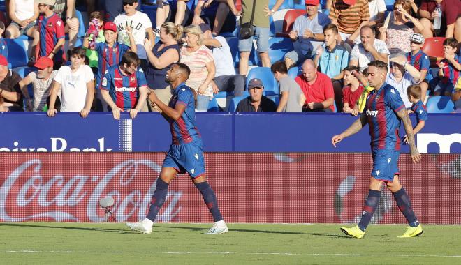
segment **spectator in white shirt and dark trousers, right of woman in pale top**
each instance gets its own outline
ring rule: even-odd
[[[231,48],[226,38],[212,37],[210,25],[202,23],[200,29],[203,32],[203,45],[210,47],[213,52],[214,75],[212,86],[217,86],[219,91],[233,91],[234,96],[243,96],[245,78],[243,75],[236,75]]]

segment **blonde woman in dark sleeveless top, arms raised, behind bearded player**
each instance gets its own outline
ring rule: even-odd
[[[173,63],[180,61],[180,46],[177,40],[182,37],[183,28],[172,22],[165,22],[160,28],[160,40],[151,46],[149,39],[145,39],[144,48],[146,50],[149,66],[146,71],[147,86],[153,91],[161,102],[168,105],[171,98],[170,84],[165,81],[166,71]],[[154,111],[158,109],[156,106]]]

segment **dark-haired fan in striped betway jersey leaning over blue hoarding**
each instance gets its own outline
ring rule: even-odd
[[[120,119],[120,112],[124,111],[129,111],[131,119],[134,119],[146,104],[147,82],[140,63],[135,52],[126,52],[118,65],[105,71],[101,95],[112,110],[114,119]]]

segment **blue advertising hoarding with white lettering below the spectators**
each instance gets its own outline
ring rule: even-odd
[[[198,113],[197,127],[207,152],[369,152],[365,127],[334,148],[330,142],[357,117],[348,114]],[[414,115],[411,115],[413,123]],[[136,119],[122,114],[77,113],[0,114],[0,151],[167,151],[168,123],[160,114],[140,113]],[[400,135],[404,135],[401,128]],[[416,135],[422,153],[461,153],[461,114],[430,114]],[[408,152],[408,146],[402,152]]]

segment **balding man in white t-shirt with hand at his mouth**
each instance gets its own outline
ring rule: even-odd
[[[360,29],[362,42],[353,47],[349,66],[358,66],[360,71],[363,71],[371,61],[379,60],[389,63],[388,45],[383,40],[376,39],[375,36],[376,32],[372,27],[364,26]]]

